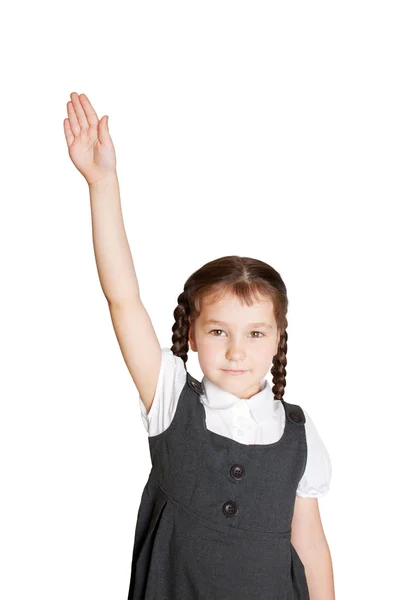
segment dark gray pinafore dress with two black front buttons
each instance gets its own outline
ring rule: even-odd
[[[290,541],[303,410],[282,400],[282,437],[242,444],[207,429],[202,393],[187,373],[171,424],[148,438],[128,600],[309,600]]]

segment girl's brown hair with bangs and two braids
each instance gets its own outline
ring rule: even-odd
[[[276,400],[282,400],[286,385],[288,298],[286,286],[279,273],[270,265],[247,256],[223,256],[206,263],[186,280],[183,292],[178,296],[174,310],[171,350],[182,358],[185,369],[189,352],[190,323],[200,315],[201,300],[215,294],[216,299],[226,292],[238,296],[251,306],[253,301],[268,298],[280,335],[278,351],[272,360],[272,392]]]

